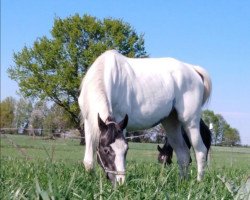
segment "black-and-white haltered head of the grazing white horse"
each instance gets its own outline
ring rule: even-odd
[[[107,178],[113,184],[125,181],[125,160],[128,151],[128,143],[125,140],[123,130],[128,123],[128,116],[117,123],[108,117],[106,123],[98,114],[98,126],[101,131],[97,150],[97,161],[107,174]]]

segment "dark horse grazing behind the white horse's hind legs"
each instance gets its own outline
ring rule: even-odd
[[[211,146],[211,131],[209,130],[208,126],[204,123],[204,121],[202,119],[200,120],[200,134],[201,134],[202,141],[203,141],[204,145],[206,146],[207,152],[208,152],[210,149],[210,146]],[[190,149],[191,143],[190,143],[189,138],[188,138],[188,136],[183,128],[182,128],[182,135],[183,135],[183,138],[184,138],[188,148]],[[158,145],[157,149],[159,151],[159,155],[158,155],[159,163],[163,163],[164,165],[166,165],[166,164],[170,165],[172,163],[173,148],[168,143],[167,137],[165,139],[164,146],[161,148]],[[189,163],[191,163],[191,162],[192,162],[192,159],[190,156]]]

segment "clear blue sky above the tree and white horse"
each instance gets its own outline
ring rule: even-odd
[[[150,57],[174,57],[200,65],[211,75],[213,94],[206,108],[220,113],[250,144],[250,1],[210,0],[2,0],[1,99],[17,97],[6,69],[13,52],[50,37],[55,17],[76,13],[113,17],[144,34]]]

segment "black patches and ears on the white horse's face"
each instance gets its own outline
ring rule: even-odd
[[[97,161],[102,167],[105,167],[110,171],[117,171],[115,165],[116,153],[112,148],[112,144],[114,144],[117,140],[122,140],[127,145],[127,141],[125,140],[125,137],[123,135],[123,130],[126,128],[127,123],[128,123],[127,115],[120,123],[116,123],[111,117],[108,117],[106,123],[104,123],[98,114],[98,126],[101,131],[98,151],[101,160],[97,156]],[[127,154],[127,149],[124,153],[124,160],[126,158],[126,154]],[[106,174],[107,178],[111,180],[113,184],[115,184],[116,175],[112,173],[106,173]]]

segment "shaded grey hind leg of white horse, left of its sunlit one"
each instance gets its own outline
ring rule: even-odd
[[[182,136],[181,123],[178,121],[176,111],[162,121],[162,125],[166,130],[169,144],[173,147],[177,156],[177,161],[180,170],[181,178],[187,178],[187,171],[189,167],[190,151]]]

